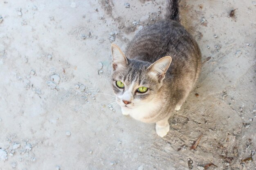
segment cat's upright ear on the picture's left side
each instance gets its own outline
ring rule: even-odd
[[[111,44],[111,52],[112,52],[112,67],[113,70],[117,68],[125,67],[128,65],[127,58],[124,56],[124,53],[116,44]]]

